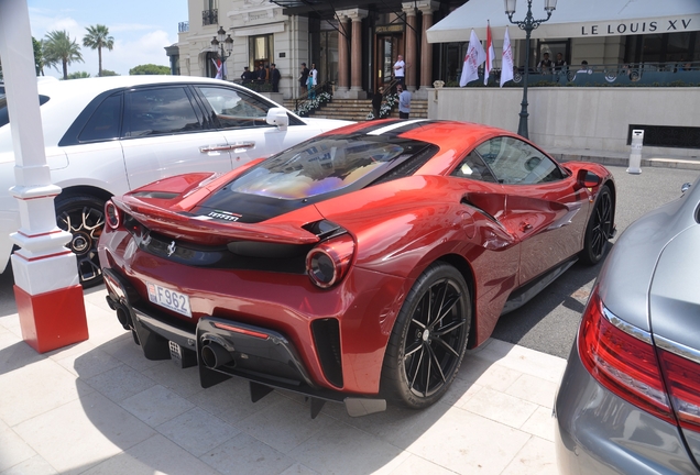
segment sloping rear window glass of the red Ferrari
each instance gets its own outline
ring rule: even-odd
[[[229,189],[281,199],[311,198],[370,183],[427,146],[382,136],[314,139],[262,162]]]

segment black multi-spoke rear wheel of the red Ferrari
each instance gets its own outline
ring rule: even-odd
[[[412,409],[440,399],[467,352],[471,320],[471,297],[462,275],[448,264],[431,264],[396,318],[384,355],[381,394]]]

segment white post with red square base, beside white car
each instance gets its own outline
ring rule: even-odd
[[[0,56],[12,118],[19,230],[10,238],[21,248],[11,257],[14,299],[22,339],[40,353],[88,339],[76,256],[65,244],[69,232],[56,225],[39,110],[39,90],[29,10],[24,0],[0,0]]]

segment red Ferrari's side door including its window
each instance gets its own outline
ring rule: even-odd
[[[499,136],[477,147],[505,194],[504,227],[522,241],[519,284],[581,250],[588,195],[547,154]]]

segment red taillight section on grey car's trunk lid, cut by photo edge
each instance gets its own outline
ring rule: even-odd
[[[656,344],[678,422],[700,432],[700,355],[666,339],[657,338]],[[686,354],[692,361],[674,353]]]

